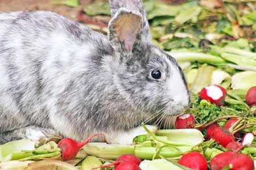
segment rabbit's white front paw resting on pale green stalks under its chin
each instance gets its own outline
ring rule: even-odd
[[[158,130],[156,126],[146,125],[146,127],[153,133]],[[147,134],[147,132],[142,126],[139,126],[138,128],[131,129],[127,132],[107,134],[106,142],[119,145],[131,145],[133,143],[133,138],[143,134]]]

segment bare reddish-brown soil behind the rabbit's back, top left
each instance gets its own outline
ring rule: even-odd
[[[72,20],[76,20],[79,8],[80,7],[71,8],[65,5],[52,5],[49,0],[0,0],[1,12],[44,10],[56,12]]]

